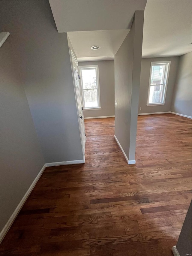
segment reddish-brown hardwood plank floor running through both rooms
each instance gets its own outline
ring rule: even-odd
[[[191,120],[139,116],[136,165],[114,118],[85,129],[85,164],[46,168],[0,255],[172,256],[191,200]]]

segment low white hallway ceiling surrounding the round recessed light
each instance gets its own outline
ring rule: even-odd
[[[130,29],[67,32],[78,61],[110,60],[118,51]],[[91,46],[101,48],[92,50]]]

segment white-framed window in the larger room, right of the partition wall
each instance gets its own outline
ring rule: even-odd
[[[147,106],[164,105],[171,62],[151,62]]]

